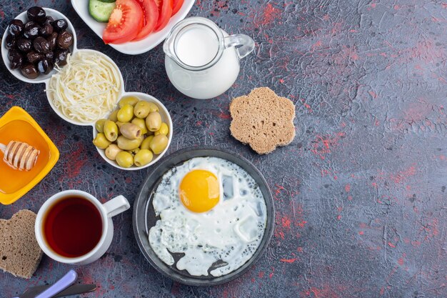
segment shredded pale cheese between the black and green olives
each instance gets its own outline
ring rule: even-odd
[[[104,56],[78,51],[56,70],[47,91],[52,104],[67,118],[91,123],[116,108],[121,76]]]

